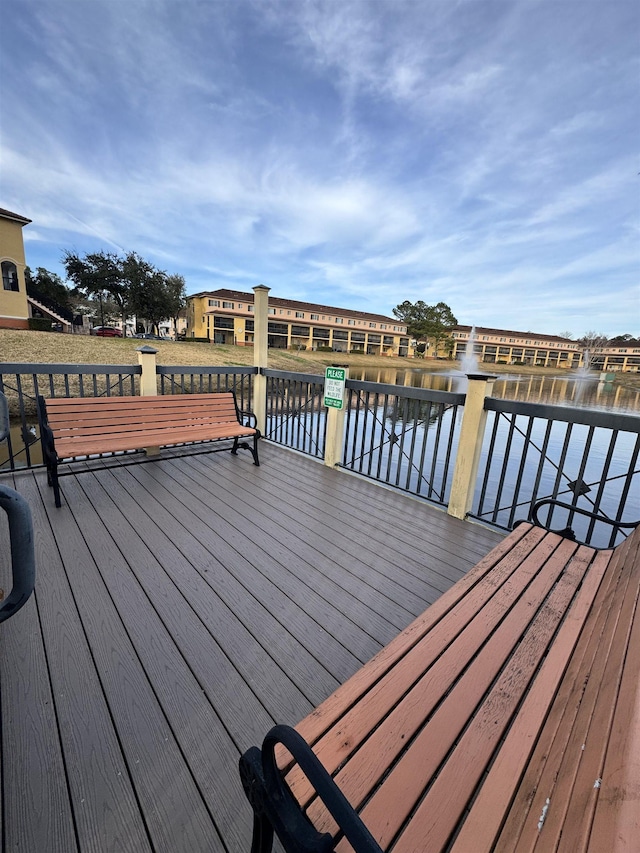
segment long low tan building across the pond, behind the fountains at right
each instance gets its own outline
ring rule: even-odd
[[[461,359],[471,337],[471,326],[456,326],[454,358]],[[534,367],[585,367],[584,347],[577,341],[539,332],[473,328],[473,349],[486,364],[527,364]],[[589,353],[589,367],[600,371],[640,372],[640,341],[609,342]]]

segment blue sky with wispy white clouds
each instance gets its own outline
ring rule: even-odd
[[[27,263],[640,334],[637,0],[2,0]]]

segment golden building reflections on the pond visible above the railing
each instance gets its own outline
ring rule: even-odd
[[[423,368],[357,368],[349,370],[351,379],[405,385],[436,391],[466,390],[466,378],[461,374],[432,372]],[[640,411],[640,389],[617,382],[600,382],[597,374],[584,376],[528,376],[509,374],[499,376],[492,396],[503,400],[528,403],[580,406],[589,409]]]

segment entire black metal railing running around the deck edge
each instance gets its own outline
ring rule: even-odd
[[[267,369],[258,376],[253,367],[155,370],[161,394],[233,390],[245,410],[254,410],[259,379],[266,383],[261,398],[265,438],[325,458],[322,376]],[[135,395],[141,380],[142,368],[132,365],[0,365],[0,391],[12,415],[8,443],[0,446],[0,468],[41,464],[38,394]],[[468,408],[462,393],[347,380],[338,464],[452,512],[453,472]],[[545,508],[542,518],[554,528],[573,527],[578,539],[598,547],[613,544],[625,531],[601,525],[581,509],[613,521],[637,520],[639,417],[491,397],[484,399],[484,410],[487,425],[484,438],[477,439],[480,461],[471,483],[470,517],[510,529],[530,516],[537,501],[557,500],[575,511],[556,508],[551,516]]]

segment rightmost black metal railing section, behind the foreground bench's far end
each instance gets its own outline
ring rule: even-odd
[[[488,398],[487,429],[470,515],[505,529],[549,504],[542,520],[572,527],[582,542],[607,547],[624,535],[598,516],[640,516],[640,418],[613,412]],[[582,507],[589,515],[562,504]],[[553,517],[552,517],[553,513]]]

